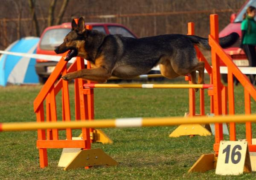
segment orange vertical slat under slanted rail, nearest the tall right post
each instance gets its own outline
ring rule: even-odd
[[[227,71],[227,90],[228,90],[229,115],[235,115],[233,73],[229,68]],[[230,123],[230,141],[236,141],[236,124],[235,123]]]

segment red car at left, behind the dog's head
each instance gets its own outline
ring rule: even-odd
[[[86,23],[86,25],[92,25],[93,29],[101,31],[105,34],[122,34],[125,37],[137,36],[132,33],[128,28],[116,23]],[[61,25],[50,26],[44,30],[38,43],[36,53],[56,55],[53,51],[55,46],[60,45],[63,42],[64,37],[71,30],[71,23],[63,23]],[[58,54],[59,55],[59,54]],[[35,70],[39,76],[41,83],[46,82],[49,75],[52,73],[57,62],[47,61],[42,59],[36,60]],[[70,65],[70,64],[68,64]]]

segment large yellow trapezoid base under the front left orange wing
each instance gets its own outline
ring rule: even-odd
[[[102,149],[87,149],[81,150],[64,168],[65,171],[69,169],[76,169],[79,167],[91,167],[99,165],[116,166],[118,163],[108,156]]]

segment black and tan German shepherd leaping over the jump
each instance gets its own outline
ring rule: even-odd
[[[169,79],[191,74],[196,82],[204,84],[204,62],[198,62],[194,45],[210,50],[208,39],[182,34],[166,34],[154,37],[131,38],[120,34],[103,34],[84,28],[84,19],[78,24],[72,21],[72,30],[64,42],[55,48],[55,52],[67,53],[65,61],[75,56],[90,61],[91,69],[82,69],[62,76],[64,80],[75,78],[93,82],[106,82],[111,76],[132,79],[148,73],[151,68],[160,65],[161,74]],[[231,33],[219,39],[222,48],[233,45],[239,38]],[[195,89],[197,91],[197,89]]]

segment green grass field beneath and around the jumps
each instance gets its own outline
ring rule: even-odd
[[[170,83],[170,82],[165,82]],[[185,84],[182,79],[171,83]],[[0,87],[0,122],[35,121],[33,101],[41,89],[37,86]],[[95,89],[95,118],[183,116],[188,112],[187,89]],[[74,112],[73,84],[70,84],[70,106]],[[235,87],[236,113],[244,113],[244,91]],[[197,93],[197,105],[198,101]],[[209,97],[205,92],[206,113]],[[57,97],[61,107],[61,96]],[[256,103],[252,100],[252,113]],[[199,110],[197,110],[199,113]],[[58,108],[61,118],[61,108]],[[74,115],[72,116],[74,119]],[[103,129],[113,144],[93,143],[115,159],[116,167],[93,167],[64,171],[57,167],[61,149],[49,149],[49,166],[39,168],[36,148],[37,132],[0,133],[0,179],[256,179],[255,173],[239,176],[219,176],[215,170],[188,173],[202,155],[213,153],[214,136],[169,138],[175,127],[143,127]],[[253,124],[254,136],[256,127]],[[79,135],[79,130],[73,130]],[[64,137],[64,132],[60,133]],[[237,126],[239,139],[245,138],[244,124]],[[228,138],[225,136],[225,139]]]

